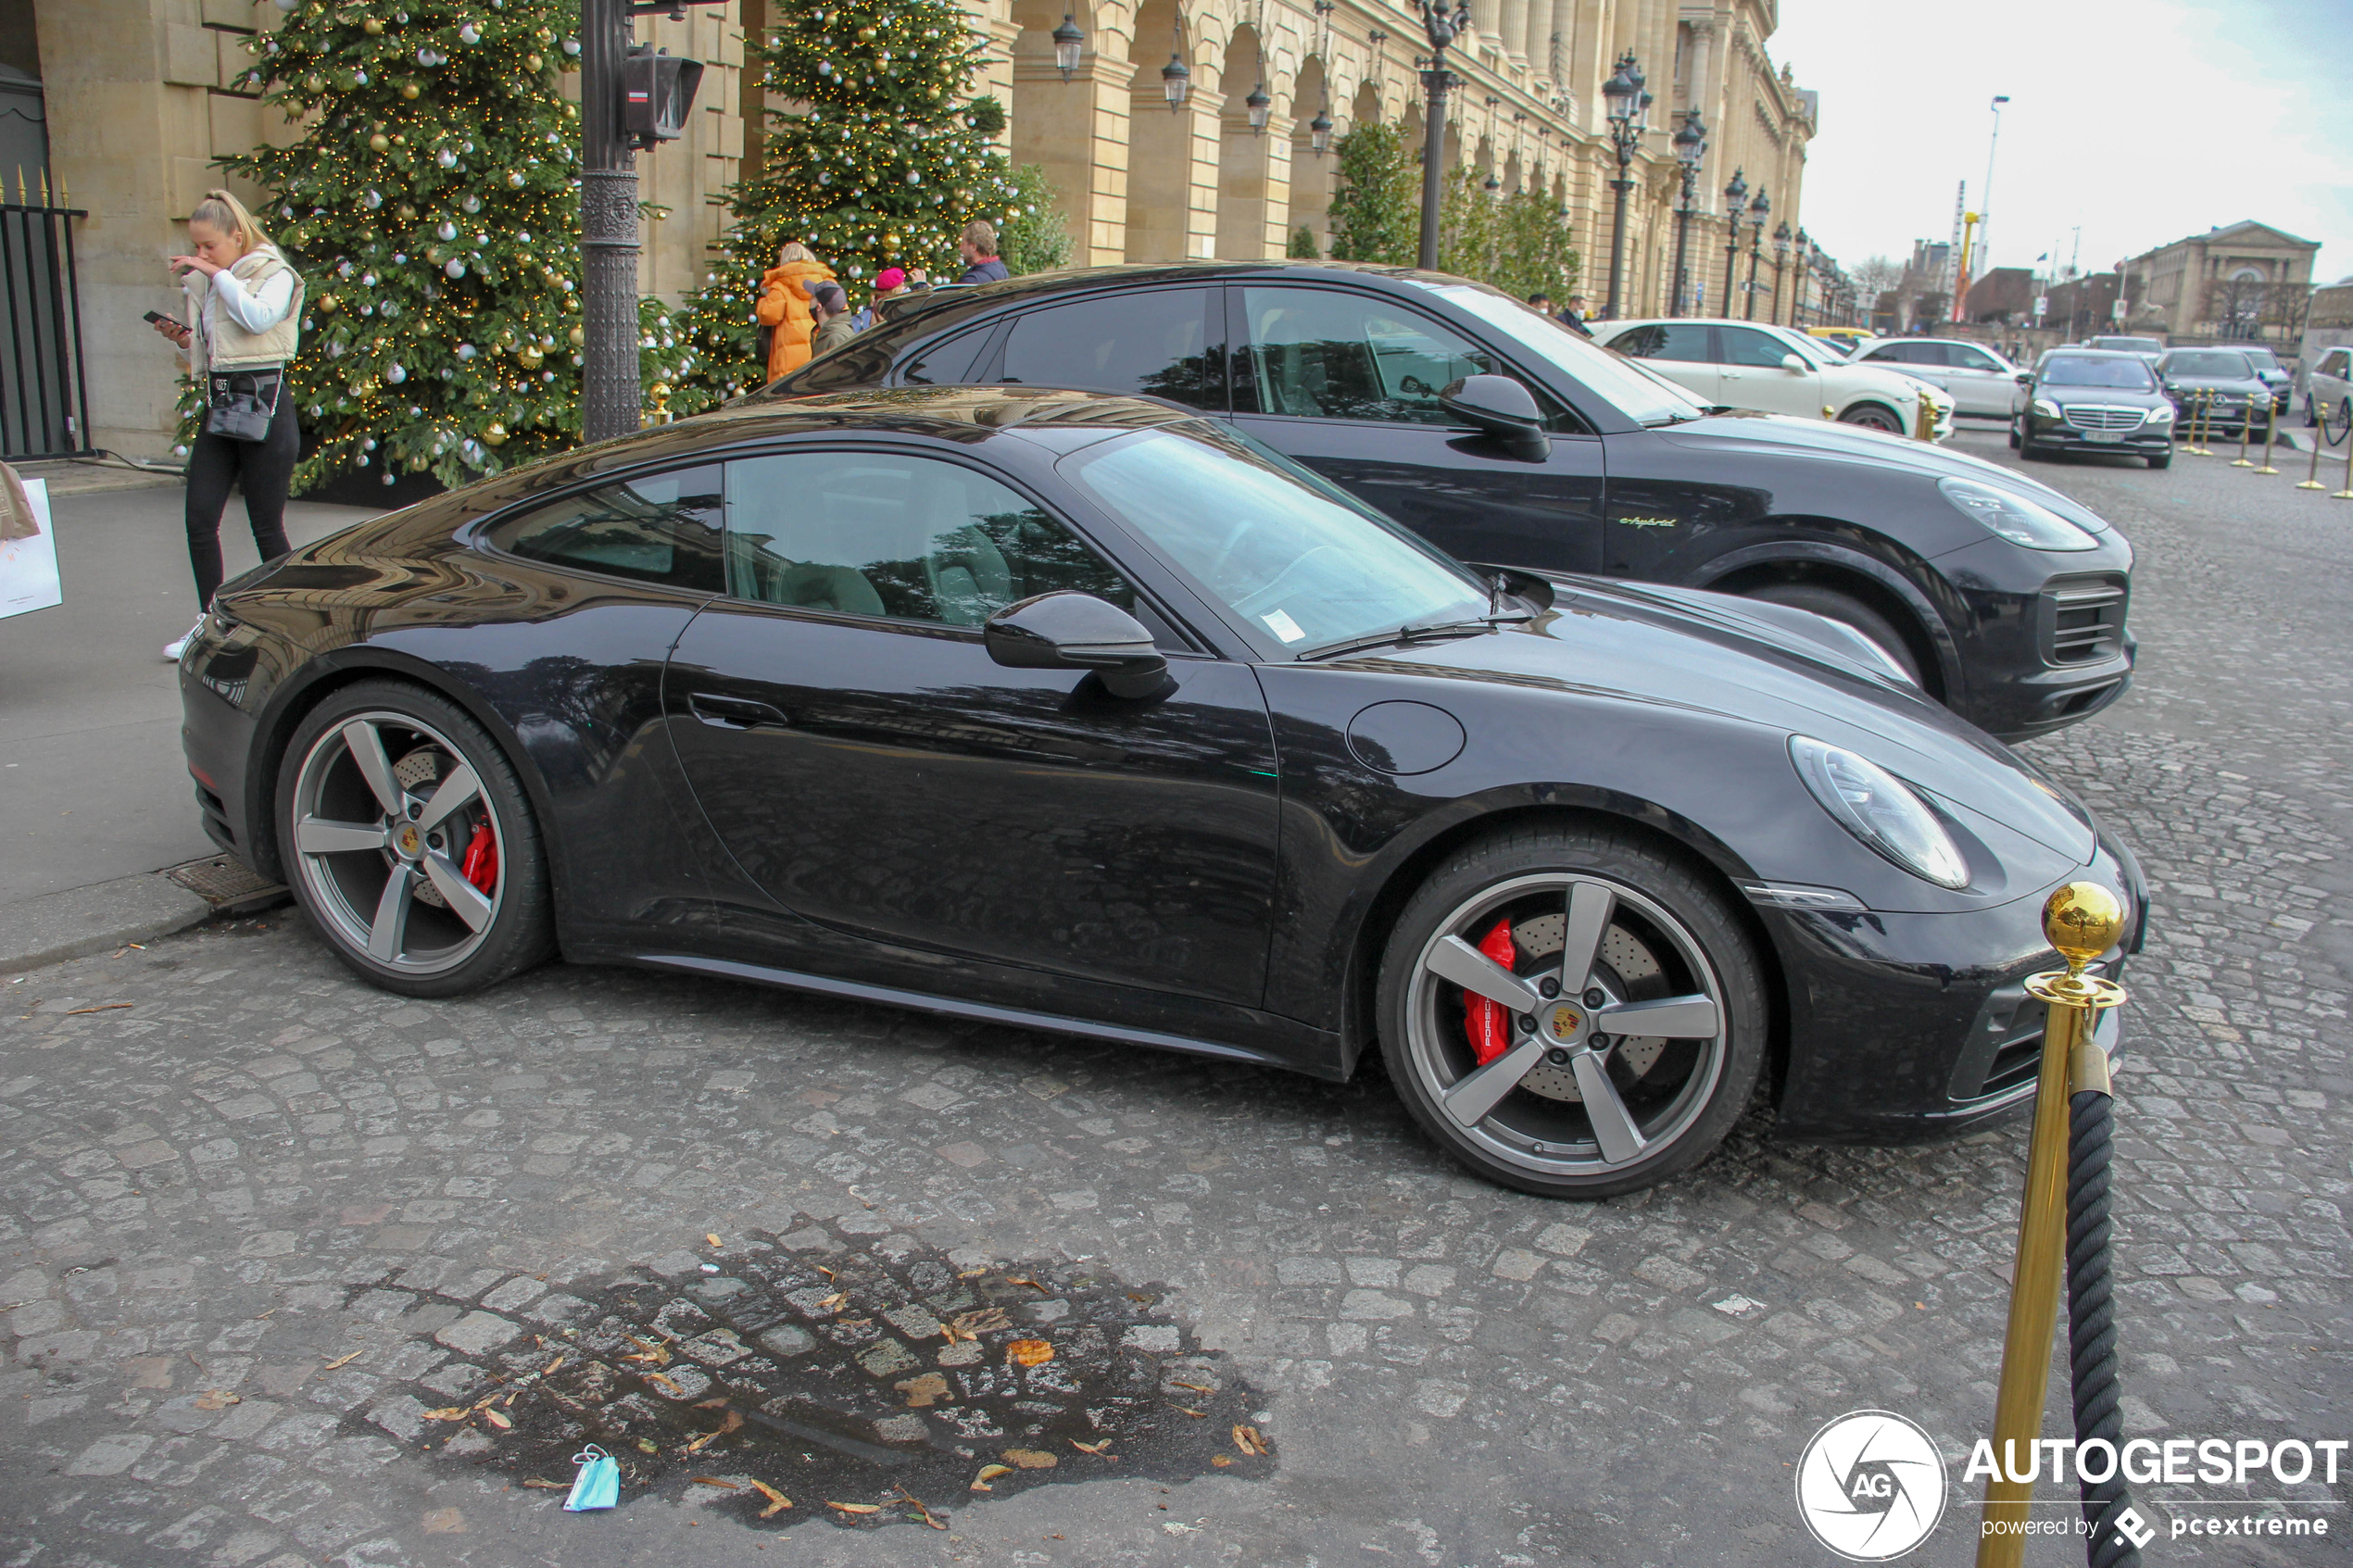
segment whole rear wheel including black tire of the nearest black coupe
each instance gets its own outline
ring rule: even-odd
[[[287,886],[365,980],[461,997],[555,952],[532,802],[449,698],[393,679],[329,693],[294,729],[273,811]],[[461,867],[485,837],[487,889]]]

